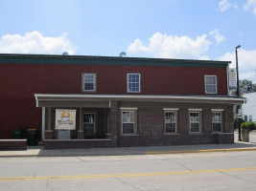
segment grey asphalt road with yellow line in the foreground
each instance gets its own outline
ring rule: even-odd
[[[2,158],[0,190],[256,190],[256,151]]]

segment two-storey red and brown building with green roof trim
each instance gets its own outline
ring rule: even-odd
[[[244,98],[228,96],[228,64],[0,54],[0,138],[34,128],[45,149],[232,143]]]

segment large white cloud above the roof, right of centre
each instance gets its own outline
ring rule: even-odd
[[[189,36],[173,36],[156,32],[151,36],[149,46],[144,45],[137,38],[128,46],[128,53],[151,53],[156,57],[164,58],[208,59],[208,56],[202,53],[208,51],[210,44],[207,34],[192,39]]]

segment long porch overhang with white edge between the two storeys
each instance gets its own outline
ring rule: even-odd
[[[109,108],[111,100],[149,102],[219,103],[242,105],[246,98],[237,96],[145,96],[145,95],[55,95],[35,94],[36,107]]]

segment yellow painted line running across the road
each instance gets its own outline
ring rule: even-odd
[[[128,174],[105,174],[105,175],[79,175],[79,176],[47,176],[47,177],[3,177],[0,181],[6,180],[72,180],[72,179],[99,179],[99,178],[122,178],[122,177],[149,177],[149,176],[166,176],[166,175],[189,175],[201,173],[223,173],[254,171],[256,167],[247,168],[227,168],[212,170],[193,170],[193,171],[171,171],[171,172],[152,172],[152,173],[128,173]]]

